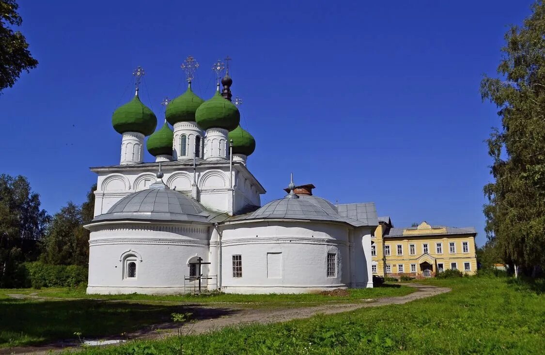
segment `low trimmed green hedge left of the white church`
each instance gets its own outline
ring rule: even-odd
[[[66,287],[87,282],[87,268],[78,265],[49,265],[43,262],[25,262],[19,274],[22,287]],[[40,288],[41,288],[40,287]]]

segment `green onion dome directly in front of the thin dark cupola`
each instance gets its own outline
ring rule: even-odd
[[[216,94],[197,108],[195,119],[203,130],[223,128],[232,131],[240,123],[240,112],[231,101],[223,99],[218,85]]]

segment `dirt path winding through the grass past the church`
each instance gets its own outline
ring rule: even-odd
[[[303,319],[312,317],[317,314],[335,314],[348,312],[359,308],[366,307],[379,307],[381,305],[389,304],[404,304],[407,302],[415,301],[416,299],[431,297],[439,295],[440,293],[445,293],[451,291],[447,287],[437,287],[430,285],[421,285],[421,284],[405,284],[410,287],[415,287],[416,291],[410,293],[406,296],[396,296],[396,297],[384,297],[378,299],[366,299],[361,300],[360,303],[336,303],[336,304],[326,304],[319,305],[315,307],[305,307],[305,308],[288,308],[288,309],[243,309],[243,308],[230,308],[231,315],[222,316],[213,319],[200,320],[193,323],[188,323],[183,327],[184,334],[202,334],[207,333],[213,330],[218,330],[221,328],[229,326],[244,325],[249,323],[276,323],[276,322],[285,322],[294,319]],[[29,296],[28,295],[9,295],[14,298],[40,298],[47,299],[45,297]],[[23,296],[23,297],[21,297]],[[108,301],[110,302],[110,301]],[[114,301],[112,301],[114,302]],[[225,306],[225,303],[223,303]],[[214,307],[210,307],[206,304],[200,304],[199,306],[203,308],[208,308],[209,311],[213,312]],[[224,308],[225,309],[225,308]],[[177,329],[173,323],[165,323],[162,325],[155,325],[154,329]],[[142,329],[139,332],[127,334],[126,336],[129,339],[158,339],[164,338],[165,336],[170,336],[177,334],[177,332],[158,333],[155,330],[148,328]],[[109,339],[109,338],[101,338]],[[114,338],[111,338],[114,339]],[[69,346],[74,346],[77,344],[49,344],[44,346],[36,347],[16,347],[10,349],[0,349],[0,354],[46,354],[51,351],[60,351],[63,348]]]

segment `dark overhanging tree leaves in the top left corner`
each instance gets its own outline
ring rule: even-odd
[[[21,26],[23,20],[17,13],[15,0],[0,0],[0,91],[13,87],[23,70],[27,72],[38,66],[28,51],[28,43],[12,26]]]

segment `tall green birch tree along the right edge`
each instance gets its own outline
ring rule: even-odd
[[[484,188],[485,230],[505,261],[526,270],[545,266],[545,5],[532,10],[505,34],[500,78],[481,81],[501,119],[487,140],[495,181]]]

